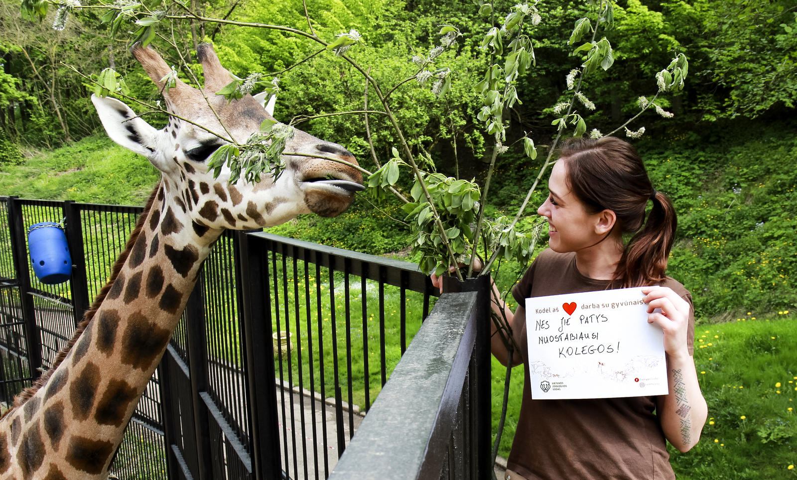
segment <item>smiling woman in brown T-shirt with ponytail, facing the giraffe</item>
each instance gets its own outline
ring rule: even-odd
[[[525,385],[505,480],[528,478],[675,478],[665,439],[683,452],[700,438],[707,408],[697,383],[694,320],[688,291],[665,276],[676,216],[650,183],[634,148],[613,137],[565,145],[537,213],[548,218],[549,249],[512,289],[504,309],[524,364]],[[645,219],[648,201],[653,202]],[[623,235],[633,234],[623,242]],[[433,281],[439,285],[438,278]],[[669,395],[611,399],[532,400],[525,299],[560,293],[644,286],[648,323],[664,332]],[[654,313],[655,309],[657,310]],[[509,355],[493,324],[492,350]]]

